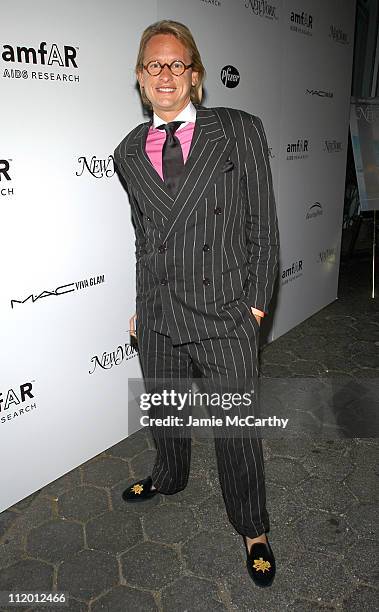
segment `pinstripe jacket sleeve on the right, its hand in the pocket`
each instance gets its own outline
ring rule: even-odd
[[[279,232],[262,121],[251,116],[245,160],[246,244],[250,306],[267,312],[278,272]]]

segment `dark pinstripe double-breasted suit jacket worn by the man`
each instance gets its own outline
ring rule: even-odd
[[[133,129],[114,153],[135,226],[137,325],[170,336],[173,345],[227,336],[251,306],[267,311],[278,267],[261,120],[195,106],[175,197],[145,152],[152,121]]]

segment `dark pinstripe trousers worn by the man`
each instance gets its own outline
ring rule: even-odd
[[[175,389],[178,381],[189,381],[193,365],[201,373],[202,391],[254,387],[257,379],[259,325],[246,309],[235,331],[225,337],[209,338],[173,346],[171,338],[145,326],[138,326],[137,339],[147,392]],[[255,380],[255,384],[254,381]],[[180,386],[180,384],[179,384]],[[188,390],[188,386],[187,386]],[[154,417],[164,417],[164,406],[154,408]],[[182,490],[188,481],[191,437],[170,428],[150,427],[157,456],[152,471],[154,486],[164,494]],[[226,511],[234,528],[254,538],[269,530],[266,510],[262,443],[255,427],[247,433],[215,433],[215,450]],[[244,428],[245,430],[245,428]]]

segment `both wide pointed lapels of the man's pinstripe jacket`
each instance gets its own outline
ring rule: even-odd
[[[191,148],[175,198],[168,192],[145,151],[152,120],[141,126],[125,150],[127,169],[164,219],[163,240],[196,208],[205,191],[215,182],[236,142],[233,136],[226,135],[213,109],[195,106],[196,123]]]

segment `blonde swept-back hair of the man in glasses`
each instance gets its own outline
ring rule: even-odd
[[[171,19],[162,19],[156,23],[151,24],[144,30],[141,36],[137,62],[135,67],[136,75],[143,70],[143,56],[148,41],[157,34],[172,34],[175,36],[184,47],[187,49],[191,56],[192,70],[198,72],[198,82],[196,85],[191,87],[190,98],[195,104],[200,104],[203,97],[203,81],[205,78],[205,68],[201,61],[199,50],[196,46],[194,38],[190,30],[183,23],[178,21],[171,21]],[[149,98],[145,94],[144,87],[139,84],[142,102],[148,108],[153,108]]]

